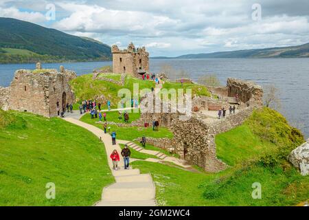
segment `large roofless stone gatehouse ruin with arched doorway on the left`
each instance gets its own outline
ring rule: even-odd
[[[10,85],[9,109],[45,117],[56,116],[57,102],[61,111],[67,102],[73,104],[75,100],[69,85],[69,80],[74,77],[76,74],[73,72],[60,73],[56,69],[42,72],[18,70]]]

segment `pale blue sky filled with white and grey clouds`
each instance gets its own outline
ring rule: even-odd
[[[0,0],[0,17],[108,45],[133,41],[151,56],[309,42],[308,0]]]

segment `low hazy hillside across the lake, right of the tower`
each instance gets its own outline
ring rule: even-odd
[[[309,43],[294,47],[273,47],[256,50],[236,50],[209,54],[186,54],[174,58],[300,58],[309,57]],[[164,58],[164,57],[153,57]]]

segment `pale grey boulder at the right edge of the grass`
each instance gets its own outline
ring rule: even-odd
[[[288,160],[293,166],[299,168],[301,175],[309,175],[309,139],[294,149],[288,156]]]

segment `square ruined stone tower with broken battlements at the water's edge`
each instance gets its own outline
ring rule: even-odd
[[[145,47],[135,49],[133,43],[130,43],[127,50],[119,50],[117,45],[113,45],[111,50],[114,73],[140,77],[149,72],[149,53]]]

